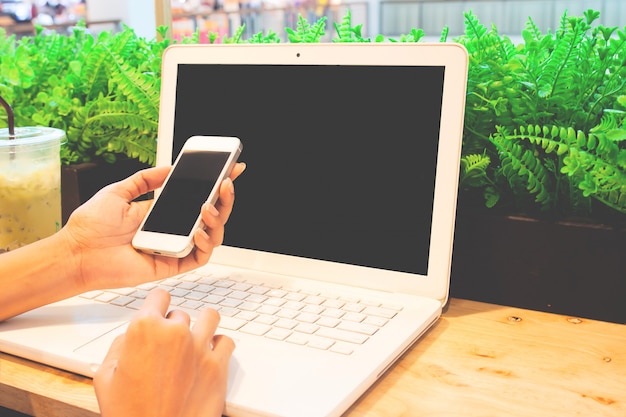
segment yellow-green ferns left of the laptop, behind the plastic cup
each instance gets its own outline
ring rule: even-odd
[[[84,24],[70,35],[37,28],[21,39],[0,29],[0,95],[12,104],[16,125],[66,131],[64,164],[120,156],[154,164],[161,56],[171,43],[142,39],[128,27],[97,37]]]

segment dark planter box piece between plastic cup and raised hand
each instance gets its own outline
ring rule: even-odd
[[[134,159],[121,159],[115,164],[87,162],[63,166],[61,168],[63,224],[79,205],[89,200],[102,187],[147,167],[147,164]]]

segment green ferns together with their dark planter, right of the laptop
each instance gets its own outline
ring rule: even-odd
[[[465,17],[453,294],[626,322],[626,32],[588,10],[514,45]]]

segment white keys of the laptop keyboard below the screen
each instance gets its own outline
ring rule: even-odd
[[[171,308],[190,314],[213,308],[219,327],[350,355],[401,310],[358,297],[325,297],[316,291],[283,288],[238,275],[202,270],[134,288],[91,291],[81,297],[139,309],[156,287],[169,291]]]

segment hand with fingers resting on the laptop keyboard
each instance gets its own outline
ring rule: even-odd
[[[235,345],[215,335],[219,315],[190,317],[169,308],[170,294],[151,291],[118,336],[94,377],[103,417],[220,416]]]

